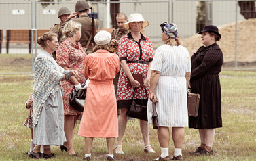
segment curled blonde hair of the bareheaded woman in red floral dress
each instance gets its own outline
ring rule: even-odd
[[[81,24],[79,22],[75,22],[70,20],[67,22],[62,30],[62,33],[65,37],[73,37],[75,32],[81,29]]]

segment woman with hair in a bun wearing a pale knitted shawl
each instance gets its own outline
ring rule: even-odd
[[[33,88],[33,142],[31,158],[52,158],[50,145],[63,145],[64,112],[61,81],[77,76],[75,70],[65,70],[58,66],[52,53],[58,48],[57,35],[46,32],[37,39],[43,50],[35,58],[35,83]],[[44,152],[40,153],[41,145]]]

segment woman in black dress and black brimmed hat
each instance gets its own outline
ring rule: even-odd
[[[201,96],[198,117],[189,116],[189,128],[199,130],[201,145],[192,152],[196,155],[213,154],[215,128],[222,127],[221,84],[219,72],[223,64],[223,54],[216,41],[221,34],[216,26],[204,26],[202,46],[191,57],[191,93]]]

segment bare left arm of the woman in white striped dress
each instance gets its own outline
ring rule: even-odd
[[[156,83],[158,83],[158,79],[161,72],[152,70],[151,71],[151,78],[150,78],[150,87],[149,87],[149,98],[152,101],[152,99],[155,99],[156,102],[158,102],[158,99],[156,99],[155,93],[153,93],[153,90],[156,88]]]

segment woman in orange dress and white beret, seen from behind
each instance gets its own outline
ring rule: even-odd
[[[85,137],[84,160],[91,158],[90,150],[94,137],[107,139],[107,160],[115,160],[113,148],[115,137],[118,137],[118,122],[113,79],[120,70],[120,63],[117,55],[109,53],[110,39],[109,32],[98,32],[94,37],[96,52],[87,55],[84,60],[84,75],[90,78],[84,114],[78,131],[78,135]]]

